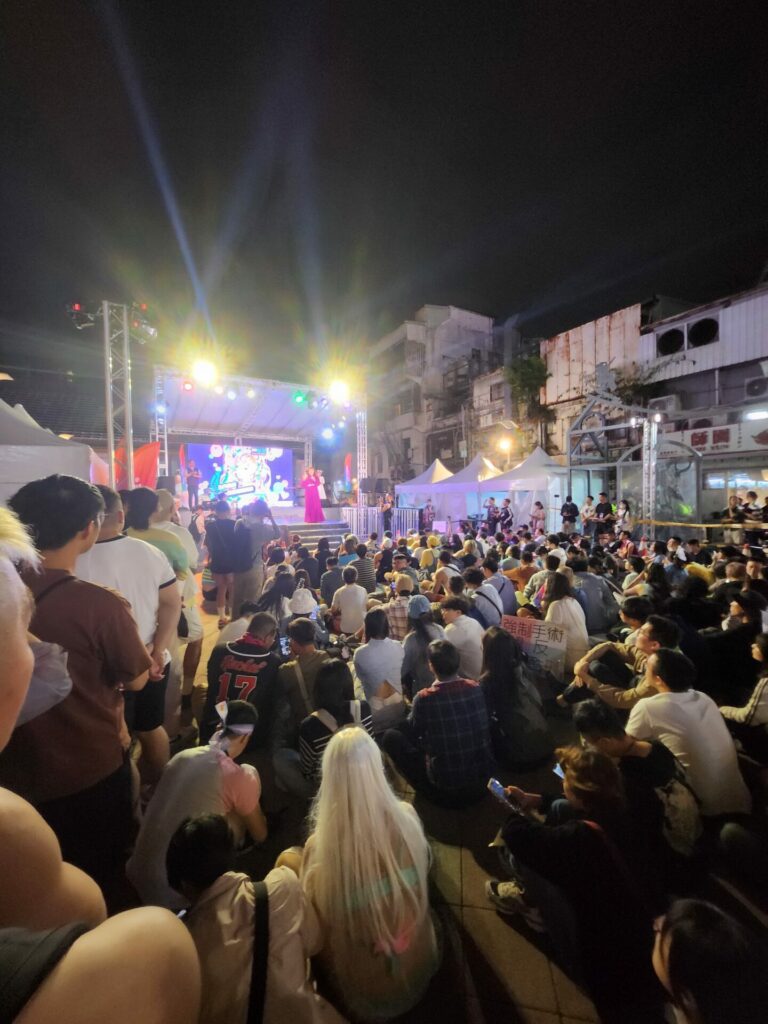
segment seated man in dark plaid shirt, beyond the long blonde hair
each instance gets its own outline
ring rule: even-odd
[[[483,797],[493,764],[485,698],[478,683],[460,676],[459,650],[447,639],[432,641],[429,664],[435,683],[416,694],[381,745],[417,793],[462,807]]]

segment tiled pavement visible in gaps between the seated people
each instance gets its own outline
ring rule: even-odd
[[[205,685],[205,666],[217,628],[204,615],[206,640],[198,673]],[[553,726],[559,741],[571,738],[566,722]],[[557,779],[544,771],[511,775],[502,781],[535,792],[554,792]],[[424,821],[433,854],[433,904],[442,925],[443,959],[427,997],[400,1024],[577,1024],[597,1021],[590,999],[548,955],[546,938],[523,922],[504,918],[485,898],[485,880],[498,877],[497,855],[487,844],[503,819],[490,797],[464,811],[446,811],[414,800],[401,780],[397,787],[414,801]],[[269,813],[269,806],[266,807]],[[270,837],[241,865],[262,877],[280,851],[303,841],[303,807],[284,809],[270,820]]]

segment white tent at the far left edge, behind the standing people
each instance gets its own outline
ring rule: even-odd
[[[20,406],[0,400],[0,502],[51,473],[89,478],[89,447],[56,437],[39,426]]]

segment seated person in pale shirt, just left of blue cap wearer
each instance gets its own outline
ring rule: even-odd
[[[365,638],[366,642],[354,652],[352,664],[361,691],[359,695],[365,695],[371,706],[374,728],[376,732],[383,732],[406,714],[402,698],[406,652],[402,644],[389,636],[388,609],[374,608],[368,612]]]

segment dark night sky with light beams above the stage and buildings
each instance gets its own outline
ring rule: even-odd
[[[732,0],[4,0],[5,361],[82,364],[96,339],[62,307],[102,297],[153,303],[170,350],[204,329],[196,276],[233,365],[299,379],[425,302],[546,333],[751,287],[765,23]]]

